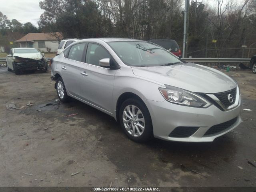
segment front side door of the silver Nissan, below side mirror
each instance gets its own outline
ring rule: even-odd
[[[89,42],[82,71],[84,78],[80,82],[81,96],[83,100],[112,114],[113,85],[116,70],[101,67],[99,60],[102,58],[111,58],[111,55],[103,46]]]

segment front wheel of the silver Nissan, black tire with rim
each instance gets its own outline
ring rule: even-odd
[[[135,142],[146,142],[153,138],[150,113],[146,105],[137,98],[129,98],[122,103],[119,109],[119,122],[124,133]]]

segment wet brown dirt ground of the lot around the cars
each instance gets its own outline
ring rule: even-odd
[[[228,75],[252,110],[242,111],[238,128],[212,143],[138,144],[110,116],[76,100],[56,102],[50,71],[17,76],[0,68],[0,186],[255,186],[256,75]],[[7,110],[11,102],[24,108]]]

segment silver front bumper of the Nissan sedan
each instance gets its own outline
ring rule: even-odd
[[[241,99],[232,110],[222,111],[214,105],[208,108],[194,108],[172,104],[168,101],[156,102],[143,99],[148,107],[153,124],[154,137],[163,140],[183,142],[212,142],[215,138],[236,128],[241,122]],[[206,132],[215,125],[235,119],[232,125],[214,134]],[[177,127],[196,127],[196,131],[188,137],[171,137]],[[206,135],[205,135],[206,134]]]

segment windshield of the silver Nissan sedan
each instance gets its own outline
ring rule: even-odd
[[[148,42],[108,42],[119,58],[128,66],[164,66],[182,63],[163,48]]]

